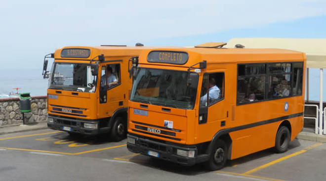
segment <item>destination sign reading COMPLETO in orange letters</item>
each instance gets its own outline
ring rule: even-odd
[[[185,64],[188,59],[188,53],[174,51],[152,51],[147,56],[148,62],[171,63],[178,65]]]

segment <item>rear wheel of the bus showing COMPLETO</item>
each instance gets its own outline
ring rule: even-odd
[[[290,131],[286,126],[282,126],[276,134],[275,151],[278,153],[286,151],[289,142],[290,142]]]

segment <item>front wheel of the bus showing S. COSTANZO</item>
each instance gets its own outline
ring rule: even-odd
[[[125,125],[123,119],[118,117],[115,119],[113,127],[111,129],[110,138],[111,140],[118,142],[126,138],[127,126]]]

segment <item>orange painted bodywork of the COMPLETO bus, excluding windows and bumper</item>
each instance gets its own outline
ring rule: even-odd
[[[151,51],[186,52],[189,59],[182,65],[148,62],[147,56]],[[304,53],[281,49],[163,48],[144,50],[139,57],[139,67],[187,71],[190,66],[203,60],[206,60],[206,68],[196,71],[199,75],[199,82],[194,109],[177,109],[129,101],[128,132],[133,135],[163,140],[165,143],[173,142],[196,146],[209,143],[213,140],[214,135],[221,130],[230,130],[227,133],[232,142],[230,159],[235,159],[274,147],[278,128],[285,120],[290,123],[291,140],[301,131],[305,95],[306,57]],[[301,95],[238,105],[238,64],[272,62],[303,62]],[[194,70],[190,71],[195,72]],[[225,97],[209,106],[207,122],[199,123],[200,90],[203,76],[205,73],[217,72],[223,72],[225,75],[225,86],[222,90]],[[153,89],[153,91],[157,90]],[[285,102],[288,103],[286,111]],[[148,107],[142,108],[141,105]],[[171,112],[166,113],[162,111],[163,108],[168,108]],[[148,116],[134,114],[134,109],[147,111]],[[287,118],[287,116],[289,117]],[[273,121],[277,119],[282,120]],[[176,139],[163,138],[148,130],[139,132],[140,130],[135,127],[137,124],[135,122],[138,122],[151,128],[158,128],[158,126],[164,128],[164,120],[173,121],[173,129],[181,130],[181,132],[175,132],[173,138]],[[270,121],[270,123],[264,121]],[[224,122],[225,125],[223,125]]]

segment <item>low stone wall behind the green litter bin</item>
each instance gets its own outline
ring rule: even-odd
[[[47,120],[46,96],[35,96],[31,100],[31,112],[25,113],[25,123]],[[19,98],[0,99],[0,126],[22,124]]]

